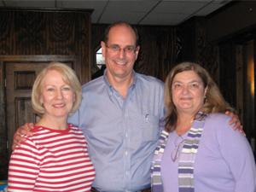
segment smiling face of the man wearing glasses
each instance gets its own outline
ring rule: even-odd
[[[108,47],[118,46],[119,51]],[[124,48],[133,47],[132,53],[125,52]],[[127,79],[132,75],[134,62],[137,60],[139,46],[136,48],[136,34],[130,26],[113,26],[108,32],[108,43],[102,42],[102,55],[105,57],[108,69],[107,77],[111,79]]]

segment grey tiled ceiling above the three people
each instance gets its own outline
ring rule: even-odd
[[[206,16],[231,0],[0,0],[0,7],[94,9],[93,24],[125,20],[137,25],[176,26],[190,17]]]

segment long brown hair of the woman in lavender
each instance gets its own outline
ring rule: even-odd
[[[236,113],[235,109],[230,108],[230,104],[224,101],[224,97],[218,89],[218,85],[215,84],[210,74],[207,73],[203,67],[193,62],[182,62],[172,68],[172,71],[166,78],[165,106],[167,113],[163,119],[166,122],[166,131],[174,131],[177,125],[177,109],[172,102],[172,81],[177,73],[182,73],[183,71],[194,71],[201,78],[204,89],[207,87],[207,102],[205,102],[201,108],[202,113],[224,113],[226,111]]]

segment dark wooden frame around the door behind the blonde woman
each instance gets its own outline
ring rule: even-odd
[[[75,55],[0,55],[0,169],[3,174],[8,173],[9,166],[9,148],[8,148],[8,128],[7,128],[7,96],[6,96],[6,74],[5,68],[9,62],[71,62],[73,70],[81,78],[81,66],[79,56]],[[1,177],[1,175],[0,175]],[[7,179],[7,178],[6,178]],[[0,179],[1,180],[1,179]]]

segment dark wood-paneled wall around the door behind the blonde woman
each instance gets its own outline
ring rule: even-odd
[[[82,84],[90,80],[91,10],[0,9],[0,55],[72,55]],[[0,180],[7,178],[6,98],[0,65]]]

